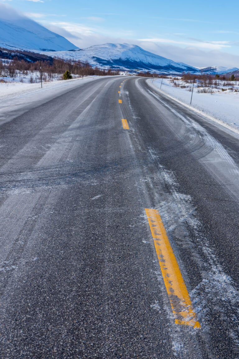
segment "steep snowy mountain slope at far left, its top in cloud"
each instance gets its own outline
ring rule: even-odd
[[[39,51],[77,49],[64,37],[0,4],[0,47]]]

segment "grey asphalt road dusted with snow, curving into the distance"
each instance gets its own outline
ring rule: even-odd
[[[125,76],[9,116],[0,358],[239,358],[239,136]],[[145,208],[200,328],[175,322]]]

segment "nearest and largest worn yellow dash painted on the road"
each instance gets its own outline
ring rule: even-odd
[[[161,216],[155,209],[145,208],[145,212],[154,239],[164,284],[175,316],[175,323],[201,328],[200,323],[196,320],[196,313],[193,311],[190,296],[173,254]]]

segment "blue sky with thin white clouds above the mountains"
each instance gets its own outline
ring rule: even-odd
[[[239,1],[11,0],[78,47],[127,42],[193,66],[239,67]]]

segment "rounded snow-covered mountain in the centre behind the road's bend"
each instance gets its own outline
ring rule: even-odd
[[[93,66],[124,70],[139,69],[140,71],[175,74],[181,74],[182,71],[198,72],[198,69],[193,66],[166,59],[152,52],[145,51],[137,45],[129,45],[127,43],[106,43],[74,51],[47,52],[47,55],[88,61]]]

